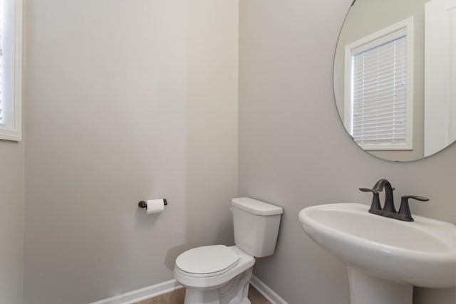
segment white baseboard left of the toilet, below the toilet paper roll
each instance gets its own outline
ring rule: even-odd
[[[171,291],[180,288],[182,288],[182,285],[177,283],[176,280],[170,280],[90,304],[133,304],[142,300],[157,297],[158,295],[162,295],[164,293],[170,293]]]

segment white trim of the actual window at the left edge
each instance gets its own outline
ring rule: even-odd
[[[22,0],[14,0],[14,124],[0,124],[0,140],[22,140]],[[6,103],[6,100],[2,100]]]

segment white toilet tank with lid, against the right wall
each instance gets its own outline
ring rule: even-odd
[[[276,248],[281,214],[279,206],[249,197],[232,200],[234,243],[251,256],[271,256]]]

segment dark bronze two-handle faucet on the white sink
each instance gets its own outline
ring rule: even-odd
[[[385,204],[383,204],[383,209],[380,205],[379,193],[385,189]],[[372,192],[372,204],[369,212],[371,214],[378,214],[380,216],[386,216],[393,219],[399,219],[400,221],[413,221],[412,214],[410,213],[410,208],[408,206],[408,199],[417,199],[418,201],[429,201],[429,199],[423,196],[415,195],[405,195],[402,196],[400,200],[399,211],[396,211],[394,206],[393,191],[394,188],[391,187],[390,182],[386,179],[380,179],[373,185],[372,189],[360,188],[362,192]]]

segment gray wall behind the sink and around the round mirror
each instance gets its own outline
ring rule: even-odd
[[[333,98],[333,53],[351,0],[245,0],[239,9],[239,195],[284,207],[276,253],[255,274],[291,304],[349,303],[346,266],[301,229],[305,206],[363,202],[388,178],[430,197],[415,214],[456,222],[456,147],[393,163],[348,138]],[[398,232],[399,233],[399,232]],[[453,304],[455,290],[415,288],[415,304]]]

